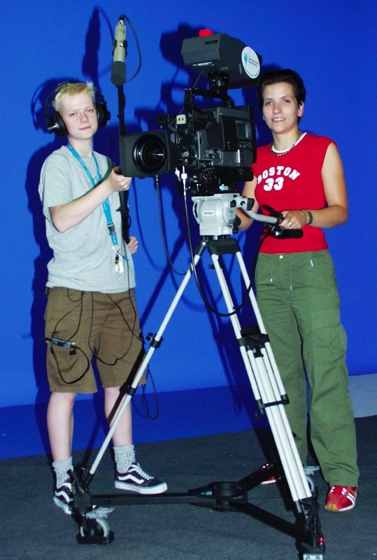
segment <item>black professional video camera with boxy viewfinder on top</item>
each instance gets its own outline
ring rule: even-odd
[[[186,113],[162,115],[164,130],[120,137],[120,167],[131,177],[152,177],[184,169],[192,196],[238,193],[235,181],[252,179],[255,124],[252,107],[234,106],[227,90],[257,84],[262,57],[227,34],[185,39],[181,54],[187,66],[204,74],[208,89],[185,90]],[[199,109],[196,97],[220,99],[221,105]]]

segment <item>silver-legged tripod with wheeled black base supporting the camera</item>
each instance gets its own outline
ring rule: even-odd
[[[235,197],[234,195],[219,195],[219,197],[221,203],[227,208],[234,208],[235,205],[229,204],[229,202],[232,203],[232,200],[239,201],[239,198],[241,198]],[[213,197],[206,199],[204,202],[207,201],[209,201],[210,206],[212,204],[218,204],[218,200],[214,200]],[[199,197],[199,200],[194,202],[197,204],[197,202],[202,202],[202,200]],[[237,204],[238,202],[236,202],[236,205]],[[242,200],[241,204],[243,204]],[[208,213],[208,208],[206,209],[205,214],[206,216],[211,214]],[[222,218],[220,221],[223,221],[223,216],[227,213],[222,212],[221,214]],[[257,219],[260,220],[261,218],[259,217]],[[201,223],[200,216],[198,216],[198,221]],[[234,221],[234,218],[232,217],[231,212],[230,224],[227,225],[228,232],[229,228],[232,226],[232,221]],[[201,226],[201,233],[208,230],[208,227],[205,224],[201,223]],[[209,229],[211,230],[211,228]],[[226,230],[227,229],[225,228],[225,231]],[[263,482],[263,480],[271,477],[271,475],[276,474],[278,472],[277,465],[268,466],[263,470],[263,472],[260,472],[260,470],[253,472],[237,482],[216,482],[215,484],[209,484],[208,486],[190,490],[186,493],[164,493],[157,496],[135,496],[130,494],[93,495],[89,491],[90,481],[92,480],[94,472],[97,470],[99,462],[101,461],[101,458],[111,441],[115,428],[118,426],[127,405],[129,405],[129,401],[136,391],[141,376],[145,370],[147,370],[153,353],[161,345],[164,330],[173,315],[173,311],[176,309],[176,306],[180,301],[180,297],[183,295],[187,283],[190,281],[194,268],[197,266],[201,256],[206,250],[211,255],[213,268],[215,269],[215,273],[220,284],[222,296],[224,297],[229,318],[232,322],[236,341],[241,352],[243,363],[246,367],[246,372],[257,402],[257,407],[261,412],[266,414],[267,419],[269,420],[269,426],[271,428],[281,462],[281,467],[278,466],[278,468],[283,468],[287,486],[289,487],[290,495],[292,496],[295,517],[294,523],[290,523],[285,519],[280,519],[273,513],[266,512],[265,510],[252,505],[248,501],[248,491]],[[224,268],[222,267],[222,257],[227,254],[235,255],[238,262],[243,281],[248,290],[248,297],[257,320],[258,332],[256,333],[250,332],[248,328],[242,329],[239,317],[235,312],[236,308],[225,277]],[[194,253],[192,265],[187,270],[183,281],[180,284],[173,301],[171,302],[166,316],[159,327],[159,330],[155,335],[150,335],[148,339],[150,341],[150,348],[145,354],[143,363],[141,364],[141,367],[139,367],[134,381],[127,389],[125,400],[122,402],[122,405],[113,419],[108,435],[106,436],[101,449],[99,449],[92,467],[87,468],[81,480],[76,478],[78,491],[74,498],[73,513],[76,515],[80,528],[80,532],[77,535],[78,542],[83,544],[92,544],[93,542],[98,544],[107,544],[108,542],[111,542],[114,535],[112,531],[109,531],[106,517],[108,513],[113,510],[113,506],[115,505],[139,505],[142,503],[206,503],[206,505],[211,505],[211,507],[217,510],[241,511],[251,517],[264,521],[266,524],[278,528],[296,538],[297,549],[302,560],[322,560],[323,554],[325,553],[325,538],[320,532],[317,490],[313,484],[309,486],[309,479],[305,475],[296,444],[294,443],[294,437],[292,435],[292,431],[290,430],[284,409],[284,405],[287,402],[287,395],[285,394],[283,384],[278,373],[278,367],[271,350],[269,337],[264,328],[262,316],[260,315],[257,307],[255,295],[252,289],[250,289],[250,279],[236,239],[230,237],[229,235],[219,236],[218,228],[216,228],[216,235],[203,235],[201,237],[199,246],[197,246],[197,250]]]

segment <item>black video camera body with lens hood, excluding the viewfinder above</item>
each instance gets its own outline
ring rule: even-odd
[[[192,90],[187,90],[192,93]],[[183,168],[190,195],[236,193],[236,181],[252,179],[255,125],[252,107],[215,106],[188,115],[159,116],[170,130],[120,137],[120,167],[131,177]]]

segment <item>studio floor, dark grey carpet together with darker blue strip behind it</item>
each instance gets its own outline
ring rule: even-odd
[[[315,560],[372,560],[376,538],[377,375],[350,378],[355,409],[360,488],[357,507],[333,514],[324,509],[327,486],[315,472],[319,517],[326,550]],[[268,426],[255,421],[250,388],[210,388],[162,393],[156,402],[141,396],[134,405],[138,461],[166,480],[168,493],[185,492],[211,481],[238,481],[265,462],[261,442]],[[148,403],[149,409],[145,409]],[[93,464],[105,427],[96,419],[101,402],[77,403],[76,464]],[[152,417],[157,416],[153,420]],[[45,407],[0,409],[0,558],[12,560],[297,560],[294,538],[239,511],[185,504],[115,507],[108,545],[78,544],[78,526],[52,501],[52,474],[45,436]],[[79,429],[80,428],[80,429]],[[252,428],[252,429],[250,429]],[[106,452],[90,483],[92,493],[114,493],[113,463]],[[285,496],[285,498],[284,498]],[[259,485],[250,504],[294,522],[279,484]],[[128,505],[128,504],[126,504]]]

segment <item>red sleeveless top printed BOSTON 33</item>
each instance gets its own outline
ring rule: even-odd
[[[308,132],[285,155],[271,154],[271,144],[257,150],[257,162],[252,166],[257,178],[255,198],[262,214],[269,214],[267,204],[279,212],[283,210],[315,210],[326,207],[321,169],[327,148],[327,137]],[[325,234],[320,228],[306,225],[299,239],[267,237],[261,253],[299,253],[327,249]]]

